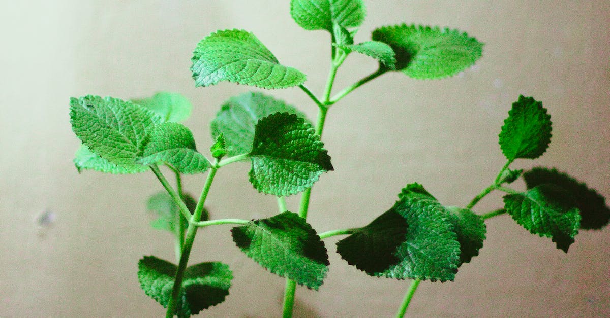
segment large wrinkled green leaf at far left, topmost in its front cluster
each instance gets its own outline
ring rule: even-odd
[[[94,154],[127,171],[135,169],[149,133],[160,122],[152,111],[120,99],[90,95],[70,99],[76,136]]]

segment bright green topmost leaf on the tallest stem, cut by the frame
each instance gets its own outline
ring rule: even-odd
[[[367,12],[362,0],[292,0],[290,15],[306,30],[328,30],[333,24],[359,27]]]

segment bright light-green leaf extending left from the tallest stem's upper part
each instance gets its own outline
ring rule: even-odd
[[[196,87],[220,81],[274,89],[301,85],[305,74],[280,65],[278,59],[253,34],[223,30],[199,41],[193,58]]]

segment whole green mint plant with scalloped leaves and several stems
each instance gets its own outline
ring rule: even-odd
[[[478,255],[488,235],[484,221],[491,217],[509,214],[564,252],[579,230],[608,225],[605,199],[584,183],[554,168],[511,169],[518,159],[543,155],[551,140],[550,115],[542,102],[519,96],[499,133],[506,164],[467,206],[443,205],[423,185],[406,180],[397,202],[368,225],[318,233],[306,218],[312,186],[334,170],[321,141],[329,109],[389,72],[412,79],[454,76],[481,58],[483,43],[459,30],[407,24],[379,27],[371,40],[356,43],[366,15],[361,0],[292,0],[290,8],[303,29],[325,30],[331,37],[331,69],[320,97],[306,87],[303,72],[282,65],[245,30],[219,30],[204,37],[193,52],[192,77],[197,87],[226,81],[268,90],[299,88],[318,108],[314,123],[297,108],[266,94],[231,97],[210,122],[212,140],[206,155],[181,124],[192,106],[180,94],[162,92],[132,101],[99,96],[70,100],[72,129],[82,141],[74,158],[79,171],[152,171],[165,189],[151,196],[147,208],[158,217],[153,227],[173,233],[178,264],[143,256],[137,275],[143,291],[167,308],[167,317],[198,314],[229,295],[232,272],[227,264],[188,264],[198,229],[211,225],[234,225],[235,246],[271,274],[286,278],[284,317],[292,316],[297,284],[321,288],[329,266],[323,240],[331,236],[348,235],[337,243],[337,253],[364,274],[412,281],[398,306],[397,317],[403,317],[420,281],[453,281],[459,267]],[[337,71],[353,53],[375,59],[378,68],[333,95]],[[218,171],[248,161],[249,182],[260,193],[277,198],[278,213],[254,220],[211,219],[205,203]],[[165,177],[166,168],[175,185]],[[185,193],[184,174],[207,174],[198,199]],[[510,187],[519,178],[526,189]],[[475,213],[475,205],[492,191],[506,193],[500,208]],[[297,194],[300,207],[293,213],[284,198]]]

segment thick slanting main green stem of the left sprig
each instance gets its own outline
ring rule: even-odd
[[[218,169],[216,168],[217,164],[218,162],[215,162],[215,165],[212,166],[212,168],[210,169],[210,172],[206,178],[206,184],[203,186],[203,191],[201,191],[201,196],[199,196],[199,201],[197,202],[197,206],[195,207],[195,212],[193,212],[193,216],[188,222],[187,236],[184,241],[184,246],[182,247],[182,253],[180,255],[178,269],[176,270],[176,277],[174,278],[174,286],[171,290],[170,302],[167,305],[167,313],[165,314],[166,318],[171,318],[176,313],[176,306],[178,306],[178,299],[182,291],[182,279],[184,278],[184,270],[187,268],[188,256],[190,255],[190,251],[193,247],[193,242],[195,241],[195,235],[197,234],[198,227],[196,225],[196,222],[201,221],[201,214],[203,213],[203,207],[206,203],[207,194],[210,192],[210,187],[212,186],[214,176],[216,175],[216,171]]]

